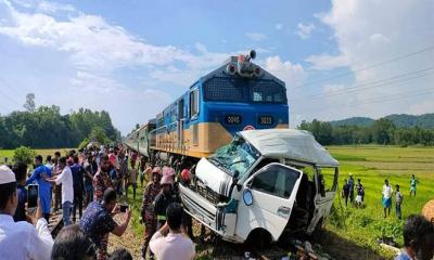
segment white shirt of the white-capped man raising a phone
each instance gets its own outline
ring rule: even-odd
[[[14,222],[12,216],[0,214],[0,260],[49,260],[53,243],[43,218],[38,220],[35,229],[26,221]]]

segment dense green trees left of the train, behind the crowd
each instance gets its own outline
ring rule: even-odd
[[[27,96],[26,110],[0,116],[0,148],[77,147],[84,140],[107,143],[120,139],[107,112],[78,112],[61,115],[59,106],[35,107]]]

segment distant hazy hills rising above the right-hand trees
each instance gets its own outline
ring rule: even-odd
[[[390,119],[398,128],[430,128],[434,129],[434,113],[423,115],[407,115],[407,114],[393,114],[383,117]],[[337,126],[358,126],[369,127],[374,122],[374,119],[369,117],[350,117],[342,120],[330,121],[333,127]]]

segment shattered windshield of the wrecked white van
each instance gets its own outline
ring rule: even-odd
[[[259,152],[248,142],[235,136],[230,144],[220,147],[214,155],[208,157],[208,160],[230,176],[238,171],[239,179],[241,179],[259,156]]]

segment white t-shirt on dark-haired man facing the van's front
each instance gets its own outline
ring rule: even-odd
[[[169,232],[163,236],[155,232],[150,242],[150,249],[159,260],[192,260],[195,255],[193,242],[182,234]]]

